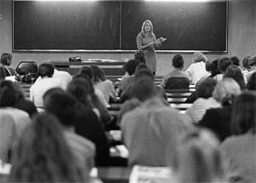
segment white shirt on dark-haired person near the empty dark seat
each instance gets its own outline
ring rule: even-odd
[[[43,79],[36,80],[30,87],[30,100],[33,101],[36,108],[43,108],[43,95],[51,88],[62,88],[62,83],[58,79],[51,77],[43,77]]]

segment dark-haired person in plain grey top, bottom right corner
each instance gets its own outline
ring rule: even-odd
[[[224,168],[229,182],[256,182],[256,93],[242,93],[234,100],[231,130],[221,143]]]

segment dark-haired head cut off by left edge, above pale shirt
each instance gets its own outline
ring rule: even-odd
[[[25,100],[21,88],[10,80],[0,81],[0,107],[12,107]]]

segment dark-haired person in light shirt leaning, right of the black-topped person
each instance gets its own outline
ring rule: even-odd
[[[114,85],[111,80],[105,78],[103,70],[98,66],[90,66],[93,70],[93,85],[96,89],[100,90],[107,103],[109,103],[109,98],[112,101],[116,101],[116,90],[114,90]]]

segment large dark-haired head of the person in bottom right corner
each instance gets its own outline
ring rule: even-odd
[[[256,91],[248,91],[237,96],[234,100],[231,130],[240,135],[247,132],[256,133]]]

